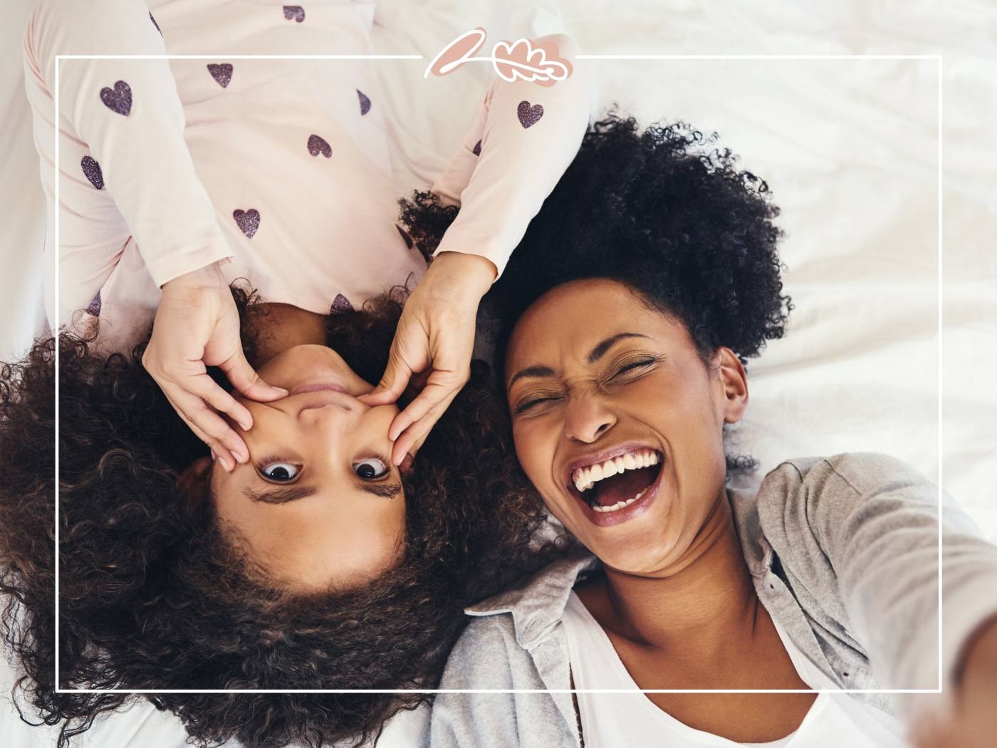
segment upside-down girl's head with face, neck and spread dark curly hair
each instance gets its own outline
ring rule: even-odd
[[[253,461],[232,473],[204,456],[145,371],[144,344],[108,356],[59,339],[60,686],[434,687],[462,609],[542,557],[529,549],[542,507],[515,463],[488,366],[473,367],[417,458],[391,468],[382,453],[398,407],[357,396],[384,370],[403,294],[331,315],[310,335],[285,322],[299,342],[283,346],[265,306],[233,295],[249,361],[291,394],[245,401]],[[0,379],[10,468],[0,592],[12,602],[5,631],[21,685],[68,738],[130,697],[55,691],[55,345],[40,340]],[[269,747],[373,737],[429,696],[149,698],[198,745]]]

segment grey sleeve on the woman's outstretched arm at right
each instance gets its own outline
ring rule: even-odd
[[[782,536],[784,564],[792,563],[832,612],[839,608],[882,686],[933,689],[940,674],[947,689],[962,646],[997,615],[997,547],[949,497],[939,508],[936,486],[885,455],[793,460],[763,488],[763,528]],[[903,699],[898,705],[905,708]]]

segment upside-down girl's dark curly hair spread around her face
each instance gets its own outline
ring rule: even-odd
[[[232,294],[254,361],[262,309]],[[405,289],[330,316],[327,343],[376,382]],[[544,514],[520,472],[487,365],[440,419],[403,476],[403,561],[369,586],[289,595],[262,583],[219,530],[211,502],[189,502],[181,471],[207,455],[142,366],[147,341],[104,355],[62,333],[0,369],[0,594],[6,643],[26,695],[60,745],[128,694],[59,693],[55,682],[55,351],[59,371],[59,687],[432,688],[463,608],[552,555],[529,550]],[[215,381],[227,386],[218,371]],[[197,745],[327,745],[376,737],[429,694],[150,694]],[[19,707],[20,709],[20,707]],[[22,711],[22,718],[27,720]]]

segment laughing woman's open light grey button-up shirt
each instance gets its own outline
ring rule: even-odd
[[[788,460],[757,496],[729,491],[762,603],[842,688],[923,688],[952,677],[960,646],[997,614],[997,547],[943,500],[944,669],[938,670],[938,490],[891,457]],[[433,748],[577,748],[561,616],[590,556],[557,561],[528,584],[468,608],[427,739]],[[905,696],[855,694],[892,712]]]

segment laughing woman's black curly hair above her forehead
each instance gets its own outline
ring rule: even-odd
[[[779,208],[729,149],[710,150],[716,140],[682,122],[639,132],[633,118],[614,113],[588,127],[484,299],[499,380],[519,316],[551,288],[581,278],[618,280],[678,319],[704,363],[719,346],[747,362],[783,336],[793,305],[782,294],[782,231],[772,222]],[[458,210],[432,192],[400,204],[427,252]],[[755,465],[728,457],[730,475]]]

